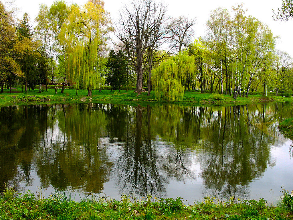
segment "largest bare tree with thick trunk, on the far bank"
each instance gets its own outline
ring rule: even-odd
[[[143,72],[149,65],[151,71],[152,54],[161,45],[166,31],[166,7],[151,0],[132,0],[129,6],[120,11],[120,21],[116,25],[117,38],[122,42],[122,48],[128,53],[137,74],[135,92],[146,92],[142,88]],[[150,85],[150,84],[149,84]]]

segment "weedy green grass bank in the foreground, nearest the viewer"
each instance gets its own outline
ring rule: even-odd
[[[205,197],[195,205],[184,205],[183,199],[145,200],[122,196],[120,201],[109,197],[84,199],[74,202],[66,194],[54,194],[44,199],[31,192],[17,193],[13,188],[2,192],[0,219],[228,219],[228,220],[289,220],[293,219],[293,197],[289,192],[277,207],[268,206],[264,199],[243,200],[231,198],[215,201]]]

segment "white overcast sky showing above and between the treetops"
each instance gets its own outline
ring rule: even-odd
[[[80,5],[86,1],[65,0],[67,4],[74,2]],[[2,0],[2,2],[5,4],[5,0]],[[34,22],[35,16],[38,13],[39,4],[43,3],[50,7],[53,2],[54,0],[14,0],[14,5],[19,8],[18,18],[22,18],[23,13],[27,12],[31,22]],[[105,10],[110,12],[113,21],[115,21],[118,18],[119,10],[129,0],[104,0],[104,2]],[[241,2],[243,2],[244,8],[248,9],[247,15],[252,15],[261,22],[266,23],[272,30],[272,33],[279,36],[276,49],[283,50],[293,57],[293,18],[286,22],[274,21],[272,18],[272,9],[277,10],[278,7],[281,7],[282,0],[165,0],[170,16],[179,17],[185,15],[190,18],[197,17],[197,24],[193,27],[196,38],[205,35],[205,23],[210,11],[218,7],[225,7],[230,10],[231,6],[241,4]]]

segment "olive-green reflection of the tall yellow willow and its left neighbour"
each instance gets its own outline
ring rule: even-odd
[[[62,104],[62,110],[53,115],[61,131],[52,129],[57,137],[48,140],[50,144],[40,151],[38,175],[42,187],[83,186],[86,192],[95,193],[103,189],[113,164],[106,157],[105,147],[99,144],[100,137],[105,135],[105,115],[100,107]]]

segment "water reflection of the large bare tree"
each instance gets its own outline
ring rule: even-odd
[[[121,193],[145,196],[147,194],[161,195],[163,193],[165,180],[159,174],[156,167],[156,152],[152,146],[151,137],[151,109],[148,106],[136,108],[135,124],[127,117],[129,131],[124,151],[117,160],[117,185]],[[143,125],[143,111],[147,111],[145,117],[146,126]]]

